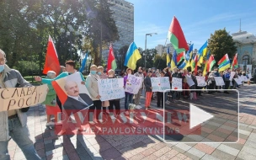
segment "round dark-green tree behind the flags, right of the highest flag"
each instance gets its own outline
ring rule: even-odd
[[[229,58],[235,56],[237,52],[237,47],[232,39],[231,35],[228,35],[226,29],[219,29],[211,34],[211,39],[209,40],[208,50],[214,55],[216,62],[220,61],[221,58],[228,54]]]

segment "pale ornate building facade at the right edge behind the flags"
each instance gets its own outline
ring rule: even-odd
[[[232,34],[237,46],[237,63],[245,71],[247,65],[256,61],[256,36],[247,31],[238,31]]]

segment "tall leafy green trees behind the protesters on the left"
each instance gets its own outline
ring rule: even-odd
[[[79,61],[78,51],[90,50],[99,58],[99,26],[103,44],[119,39],[107,0],[4,0],[0,1],[0,48],[5,51],[9,67],[30,61],[38,55],[45,61],[48,36],[51,35],[61,65],[72,58]],[[99,25],[101,24],[101,25]],[[74,29],[70,36],[70,26]],[[64,33],[61,33],[64,29]],[[83,40],[85,39],[85,40]],[[86,41],[87,40],[87,41]],[[92,44],[91,48],[83,44]],[[98,56],[97,56],[98,53]],[[18,68],[19,70],[24,68]],[[40,68],[37,68],[40,70]]]

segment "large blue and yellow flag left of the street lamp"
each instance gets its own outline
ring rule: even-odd
[[[136,62],[141,59],[140,51],[134,42],[131,43],[125,56],[125,67],[136,69]]]

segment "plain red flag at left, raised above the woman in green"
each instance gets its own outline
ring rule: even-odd
[[[61,72],[58,55],[50,35],[49,35],[49,40],[47,45],[47,51],[45,56],[45,67],[44,67],[43,73],[47,74],[48,71],[54,71],[56,72],[56,75],[58,75]]]

